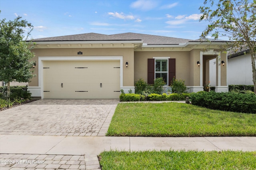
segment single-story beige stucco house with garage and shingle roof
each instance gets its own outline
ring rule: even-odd
[[[209,60],[227,55],[223,41],[200,42],[139,33],[84,33],[33,40],[36,77],[28,84],[42,99],[118,99],[120,89],[134,92],[134,82],[149,84],[163,77],[185,80],[189,92],[203,90],[209,80]],[[210,45],[210,46],[209,46]],[[207,49],[207,50],[205,50]],[[228,91],[226,66],[216,69],[216,92]]]

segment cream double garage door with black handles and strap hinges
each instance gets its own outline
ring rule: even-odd
[[[118,99],[120,61],[44,61],[45,99]]]

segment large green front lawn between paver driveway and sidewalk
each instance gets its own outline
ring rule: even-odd
[[[256,136],[256,114],[183,103],[118,104],[107,136]]]

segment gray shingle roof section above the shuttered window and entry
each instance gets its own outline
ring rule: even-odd
[[[148,45],[174,45],[174,44],[186,43],[188,41],[193,41],[191,39],[164,37],[164,36],[148,35],[148,34],[140,34],[140,33],[120,33],[120,34],[113,34],[113,35],[119,36],[119,37],[133,38],[133,39],[142,39],[143,43],[147,43]]]

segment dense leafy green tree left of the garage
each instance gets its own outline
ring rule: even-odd
[[[0,11],[1,12],[1,11]],[[10,96],[10,82],[29,82],[34,76],[31,69],[34,54],[26,43],[30,32],[31,23],[21,20],[18,16],[14,21],[0,20],[0,81],[7,83],[7,97]],[[24,37],[24,29],[30,28],[28,35]]]

